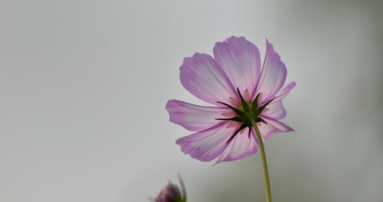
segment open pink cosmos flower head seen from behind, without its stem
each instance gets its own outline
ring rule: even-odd
[[[294,131],[278,120],[286,116],[282,99],[295,82],[282,89],[287,70],[267,39],[262,70],[258,48],[245,37],[215,43],[213,54],[185,58],[180,80],[186,90],[216,107],[175,99],[166,104],[171,122],[196,131],[176,141],[183,153],[204,162],[219,156],[215,164],[256,153],[259,140],[251,118],[263,142],[275,133]]]

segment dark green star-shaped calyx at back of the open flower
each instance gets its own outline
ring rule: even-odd
[[[224,120],[224,121],[236,121],[236,122],[242,122],[242,125],[238,128],[238,130],[236,130],[234,132],[234,134],[227,140],[226,143],[230,142],[241,130],[245,129],[245,128],[249,128],[249,138],[250,138],[250,131],[251,131],[251,119],[254,119],[255,123],[258,123],[258,122],[263,122],[265,124],[267,124],[261,117],[259,117],[259,115],[261,114],[261,112],[263,111],[263,109],[269,105],[273,99],[275,97],[273,97],[271,100],[269,100],[269,102],[265,103],[264,105],[260,106],[260,107],[257,107],[258,106],[258,98],[259,98],[259,94],[257,94],[257,96],[255,97],[254,101],[251,103],[251,106],[246,103],[245,99],[243,98],[239,88],[237,88],[237,91],[238,91],[238,94],[241,98],[241,104],[242,106],[240,107],[240,109],[238,108],[235,108],[233,106],[230,106],[230,105],[227,105],[225,103],[221,103],[221,102],[218,102],[222,105],[225,105],[226,107],[232,109],[236,114],[237,116],[235,117],[232,117],[232,118],[226,118],[226,119],[216,119],[216,120]]]

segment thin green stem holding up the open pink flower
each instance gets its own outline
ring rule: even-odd
[[[271,202],[269,171],[267,171],[266,155],[264,154],[262,137],[259,133],[258,126],[255,123],[254,119],[250,119],[250,122],[251,122],[251,125],[253,125],[253,128],[255,130],[255,134],[257,135],[259,150],[260,150],[261,157],[262,157],[263,178],[264,178],[264,188],[266,189],[266,199],[267,199],[267,202]]]

